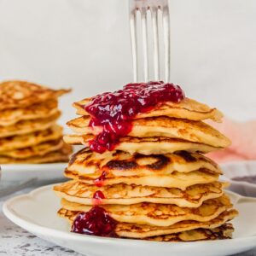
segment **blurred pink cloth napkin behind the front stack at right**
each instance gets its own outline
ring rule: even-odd
[[[229,137],[232,144],[229,148],[207,154],[218,163],[236,160],[256,160],[256,120],[236,122],[224,118],[223,123],[207,121],[218,131]]]

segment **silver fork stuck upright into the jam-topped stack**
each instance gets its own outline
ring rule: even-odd
[[[131,51],[133,65],[133,80],[138,82],[138,13],[141,15],[141,34],[143,44],[143,79],[145,82],[150,79],[148,73],[148,23],[151,20],[153,34],[153,60],[154,60],[154,80],[160,80],[160,32],[162,25],[162,37],[164,43],[164,69],[165,81],[170,80],[170,15],[168,0],[129,0],[130,3],[130,32]],[[160,19],[161,17],[161,19]],[[160,22],[162,21],[162,22]]]

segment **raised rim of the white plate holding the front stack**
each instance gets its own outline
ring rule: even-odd
[[[57,184],[57,183],[56,183]],[[19,225],[21,228],[25,230],[29,230],[32,232],[32,230],[37,230],[37,234],[40,234],[42,236],[47,236],[49,233],[51,236],[55,236],[57,238],[61,239],[68,239],[68,241],[90,241],[90,242],[99,242],[99,243],[111,243],[115,244],[116,242],[119,243],[119,245],[129,245],[131,242],[133,244],[137,245],[148,245],[148,244],[154,244],[154,245],[159,245],[162,247],[169,246],[169,247],[174,247],[178,245],[183,245],[183,246],[191,246],[195,245],[198,243],[201,243],[201,245],[206,244],[206,243],[222,243],[223,240],[218,240],[218,241],[186,241],[186,242],[178,242],[178,243],[166,243],[166,242],[161,242],[161,241],[145,241],[145,240],[134,240],[134,239],[124,239],[124,238],[111,238],[111,237],[101,237],[101,236],[89,236],[89,235],[81,235],[81,234],[75,234],[72,232],[67,232],[63,230],[56,230],[55,228],[49,228],[49,227],[44,227],[43,225],[40,224],[34,224],[24,218],[21,218],[18,214],[15,213],[15,211],[12,209],[12,205],[15,203],[15,201],[20,201],[20,199],[32,199],[33,196],[35,196],[38,193],[42,193],[45,190],[52,189],[52,187],[55,185],[54,184],[49,184],[46,186],[39,187],[38,189],[33,189],[31,192],[23,195],[16,195],[13,198],[10,198],[8,201],[5,201],[3,203],[3,213],[4,215],[9,218],[13,223]],[[256,202],[256,198],[253,197],[247,197],[247,196],[242,196],[238,195],[234,192],[228,191],[227,192],[230,195],[235,196],[236,203],[240,200],[246,200],[246,201],[253,201]],[[236,237],[233,239],[228,239],[225,240],[227,243],[233,243],[234,241],[256,241],[256,233],[253,236],[243,236],[243,237]]]

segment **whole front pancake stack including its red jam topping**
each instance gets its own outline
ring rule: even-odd
[[[167,98],[173,102],[160,102]],[[63,139],[84,148],[64,172],[72,180],[54,187],[58,214],[72,232],[148,241],[231,238],[227,222],[238,212],[224,194],[228,183],[218,181],[219,166],[203,155],[230,146],[203,122],[220,122],[217,108],[163,82],[127,84],[73,106],[80,117],[67,125],[75,134]]]

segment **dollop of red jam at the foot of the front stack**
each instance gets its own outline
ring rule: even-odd
[[[102,207],[92,207],[89,212],[80,212],[72,225],[72,232],[94,236],[116,237],[117,222]]]

